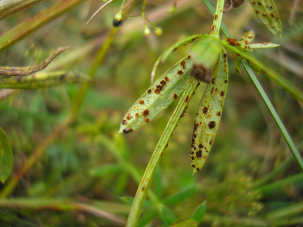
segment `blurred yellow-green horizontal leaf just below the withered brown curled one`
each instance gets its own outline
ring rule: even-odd
[[[83,83],[90,77],[73,72],[36,73],[22,77],[10,77],[0,80],[0,88],[36,89],[54,87],[61,84]]]

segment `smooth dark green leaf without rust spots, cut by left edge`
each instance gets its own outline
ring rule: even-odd
[[[13,151],[7,135],[0,127],[0,181],[5,183],[13,169]]]

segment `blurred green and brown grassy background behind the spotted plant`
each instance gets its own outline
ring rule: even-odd
[[[0,33],[58,2],[61,1],[42,1],[2,19]],[[82,1],[78,7],[2,51],[0,65],[38,64],[59,47],[68,46],[45,71],[63,69],[89,74],[96,54],[114,31],[112,21],[121,3],[112,2],[86,25],[103,2]],[[212,3],[215,5],[215,1]],[[65,202],[59,206],[61,203],[56,199],[92,204],[98,211],[127,218],[131,204],[127,198],[135,195],[138,186],[132,170],[141,175],[144,172],[176,103],[128,135],[117,135],[122,117],[150,86],[153,64],[162,51],[186,36],[209,33],[213,20],[202,1],[178,1],[175,15],[168,13],[172,4],[147,1],[146,16],[163,29],[160,37],[152,30],[149,37],[144,36],[141,17],[123,23],[104,60],[98,64],[87,92],[80,93],[82,84],[12,90],[10,94],[0,90],[0,125],[14,153],[12,176],[18,176],[18,171],[37,154],[33,165],[7,195],[10,199],[24,200],[15,205],[0,201],[0,226],[123,225],[101,212],[68,208]],[[282,38],[267,31],[248,1],[224,14],[223,22],[238,40],[252,29],[255,43],[281,44],[275,49],[255,50],[253,55],[302,90],[302,2],[281,0],[275,4],[282,22]],[[128,15],[140,14],[141,1],[127,5]],[[189,47],[178,48],[161,63],[156,77],[186,56]],[[160,201],[183,190],[183,197],[177,195],[171,202],[166,201],[178,219],[190,217],[195,207],[206,200],[201,226],[302,226],[300,168],[245,70],[241,74],[235,71],[234,56],[230,53],[228,63],[229,85],[223,116],[204,168],[191,176],[188,154],[194,116],[206,87],[201,84],[162,156],[152,190]],[[263,74],[258,79],[302,152],[302,103]],[[83,103],[74,113],[75,103],[81,98]],[[74,117],[72,122],[67,122],[69,116]],[[5,186],[1,184],[0,189]],[[45,206],[43,199],[55,205]],[[143,215],[153,212],[152,206],[146,207]],[[161,215],[155,214],[146,226],[168,225]]]

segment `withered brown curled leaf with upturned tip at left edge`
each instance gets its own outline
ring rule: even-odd
[[[56,50],[49,58],[47,58],[45,61],[29,66],[29,67],[4,67],[0,66],[0,75],[5,76],[25,76],[37,71],[40,71],[48,66],[52,62],[52,60],[57,57],[58,54],[60,54],[62,51],[66,50],[67,47],[60,47],[58,50]]]

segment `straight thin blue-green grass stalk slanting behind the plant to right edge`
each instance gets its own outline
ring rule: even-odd
[[[211,3],[209,2],[209,0],[204,0],[205,5],[207,6],[208,10],[211,12],[212,15],[215,14],[215,10],[212,7]],[[228,29],[226,28],[226,26],[224,25],[224,23],[221,23],[221,29],[225,35],[226,38],[232,38],[231,34],[229,33]],[[271,104],[271,101],[269,100],[268,96],[266,95],[263,87],[261,86],[260,82],[258,81],[257,77],[255,76],[254,72],[252,71],[251,67],[247,64],[246,61],[241,61],[247,74],[249,75],[249,77],[251,78],[252,82],[254,83],[255,87],[257,88],[259,94],[261,95],[261,98],[263,99],[265,105],[267,106],[269,112],[271,113],[271,116],[274,118],[278,128],[280,129],[286,143],[288,144],[289,149],[291,150],[291,153],[293,154],[293,156],[295,157],[296,161],[298,162],[301,171],[303,172],[303,160],[301,158],[301,155],[299,153],[299,151],[297,150],[297,148],[295,147],[295,144],[293,143],[293,141],[291,140],[290,135],[288,134],[288,131],[286,130],[284,124],[282,123],[277,111],[275,110],[275,108],[273,107],[273,105]]]

